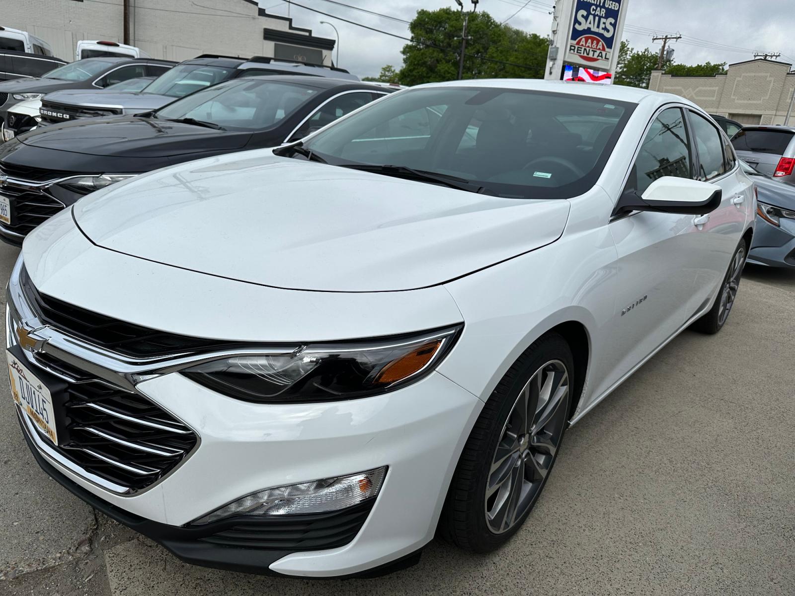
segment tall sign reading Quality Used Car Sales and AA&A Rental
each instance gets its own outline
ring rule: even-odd
[[[629,0],[560,0],[553,14],[545,79],[560,80],[564,64],[614,73]]]

